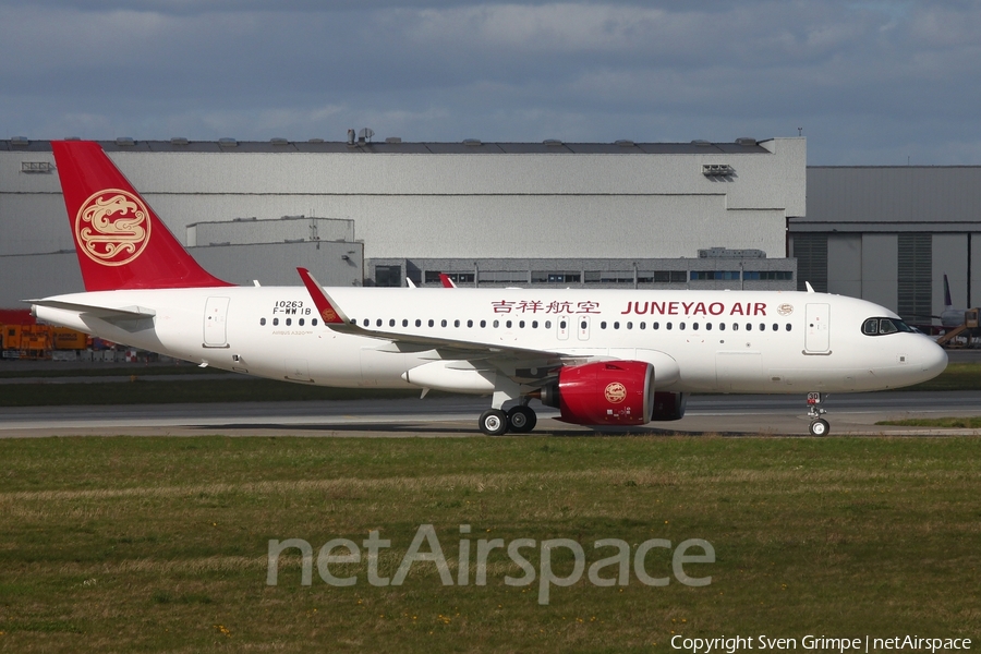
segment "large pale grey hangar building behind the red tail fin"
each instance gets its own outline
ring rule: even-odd
[[[807,143],[100,142],[213,274],[325,283],[796,287]],[[82,290],[50,143],[0,141],[0,306]]]

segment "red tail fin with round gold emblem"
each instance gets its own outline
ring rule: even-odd
[[[51,147],[85,290],[232,286],[194,261],[97,143]]]

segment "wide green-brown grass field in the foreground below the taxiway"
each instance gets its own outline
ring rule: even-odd
[[[673,634],[981,635],[977,439],[719,437],[45,438],[0,441],[0,650],[16,652],[671,652]],[[453,580],[460,525],[477,540],[571,538],[588,565],[650,538],[664,588],[585,576],[443,585],[416,562],[399,586],[301,585],[271,538],[316,550],[371,530],[391,577],[433,524]],[[428,552],[428,547],[423,548]],[[535,570],[537,550],[526,549]],[[557,574],[571,571],[556,554]],[[613,577],[607,568],[603,577]],[[977,643],[977,640],[974,641]],[[799,646],[800,649],[800,646]]]

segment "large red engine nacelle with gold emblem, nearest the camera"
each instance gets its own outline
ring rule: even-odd
[[[578,425],[643,425],[654,412],[654,366],[642,361],[604,361],[564,367],[542,389],[542,403]]]

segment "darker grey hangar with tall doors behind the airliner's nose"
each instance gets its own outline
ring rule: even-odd
[[[981,167],[808,168],[808,211],[788,220],[798,283],[863,298],[929,325],[981,304]],[[934,320],[936,323],[936,320]]]

